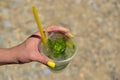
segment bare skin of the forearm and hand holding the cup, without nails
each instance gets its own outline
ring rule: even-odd
[[[44,29],[45,31],[46,29]],[[50,26],[47,31],[49,34],[51,32],[60,32],[69,38],[72,37],[66,28],[60,26]],[[0,65],[23,64],[32,61],[47,65],[47,62],[52,60],[42,55],[41,51],[38,50],[39,43],[41,43],[40,33],[36,32],[17,46],[0,48]]]

